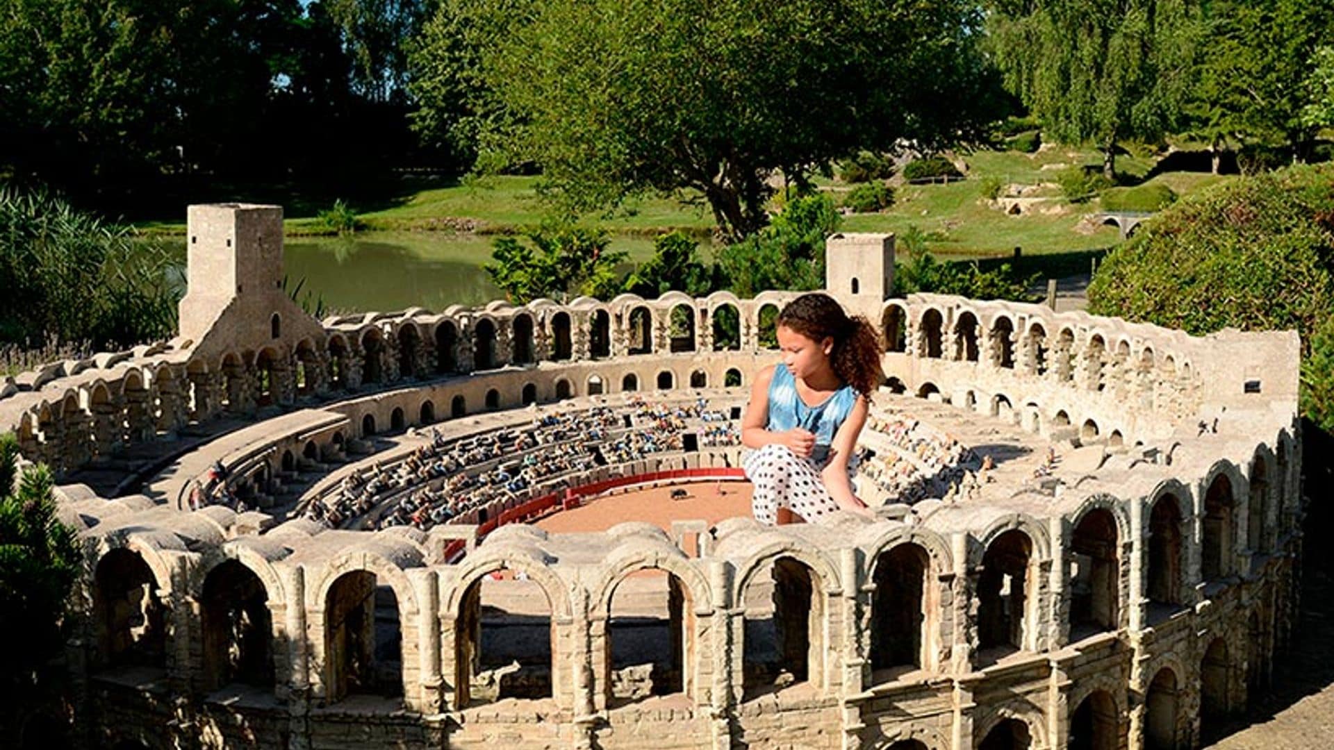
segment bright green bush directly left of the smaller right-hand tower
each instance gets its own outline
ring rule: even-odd
[[[760,232],[718,251],[716,276],[738,296],[824,287],[824,238],[842,218],[824,194],[798,196]]]

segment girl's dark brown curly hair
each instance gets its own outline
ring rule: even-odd
[[[884,380],[880,370],[880,336],[860,315],[847,315],[834,298],[804,294],[778,314],[778,326],[814,340],[834,339],[830,364],[840,380],[848,383],[868,400]]]

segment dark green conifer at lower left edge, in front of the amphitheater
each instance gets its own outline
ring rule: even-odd
[[[41,671],[64,647],[65,603],[80,570],[75,532],[56,519],[51,471],[36,466],[19,478],[17,458],[13,435],[0,435],[0,638],[20,646],[0,667],[5,737],[17,737],[24,710],[49,697]]]

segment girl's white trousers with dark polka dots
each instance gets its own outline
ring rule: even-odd
[[[820,467],[799,458],[787,446],[764,446],[746,456],[742,467],[755,486],[751,511],[760,523],[774,526],[778,508],[787,508],[807,522],[839,510],[824,488]]]

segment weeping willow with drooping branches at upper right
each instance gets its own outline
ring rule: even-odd
[[[1119,141],[1158,137],[1179,119],[1199,32],[1194,0],[996,0],[988,20],[1006,85],[1049,136],[1097,144],[1109,180]]]

